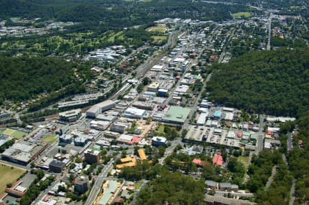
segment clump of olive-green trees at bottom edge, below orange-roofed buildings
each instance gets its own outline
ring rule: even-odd
[[[203,190],[203,180],[165,171],[141,191],[136,204],[205,204]]]

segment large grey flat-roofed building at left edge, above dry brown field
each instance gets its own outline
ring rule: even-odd
[[[47,147],[46,143],[27,145],[25,143],[15,143],[10,148],[5,149],[1,154],[3,160],[27,165],[34,158],[38,157]]]

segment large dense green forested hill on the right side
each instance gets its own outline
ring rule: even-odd
[[[209,99],[249,112],[300,116],[309,106],[309,49],[247,53],[215,64]]]

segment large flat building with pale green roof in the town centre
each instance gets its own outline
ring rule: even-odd
[[[183,108],[181,106],[170,106],[170,109],[163,117],[165,123],[183,124],[187,119],[191,109]]]

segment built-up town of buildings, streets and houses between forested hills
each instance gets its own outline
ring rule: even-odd
[[[147,30],[161,45],[109,45],[74,56],[96,62],[89,67],[95,78],[87,82],[87,93],[63,97],[36,111],[38,117],[24,111],[47,94],[18,104],[8,101],[0,115],[8,125],[0,130],[0,170],[12,173],[0,186],[0,204],[23,198],[48,205],[135,204],[150,181],[138,175],[140,169],[146,173],[157,165],[203,180],[208,204],[255,204],[255,189],[243,186],[252,177],[252,158],[283,149],[282,123],[297,119],[218,104],[209,100],[207,84],[212,64],[227,64],[244,48],[308,45],[308,39],[297,37],[308,32],[301,16],[259,9],[223,22],[160,19]],[[75,24],[47,22],[30,29],[1,21],[0,36],[44,35]],[[122,38],[122,32],[111,36]],[[0,49],[9,46],[17,43],[0,44]],[[19,51],[16,56],[23,56]],[[40,116],[43,112],[48,114]],[[41,120],[25,123],[29,118]],[[21,121],[24,125],[17,126]],[[288,134],[288,151],[304,146],[293,142],[294,134],[296,128]]]

